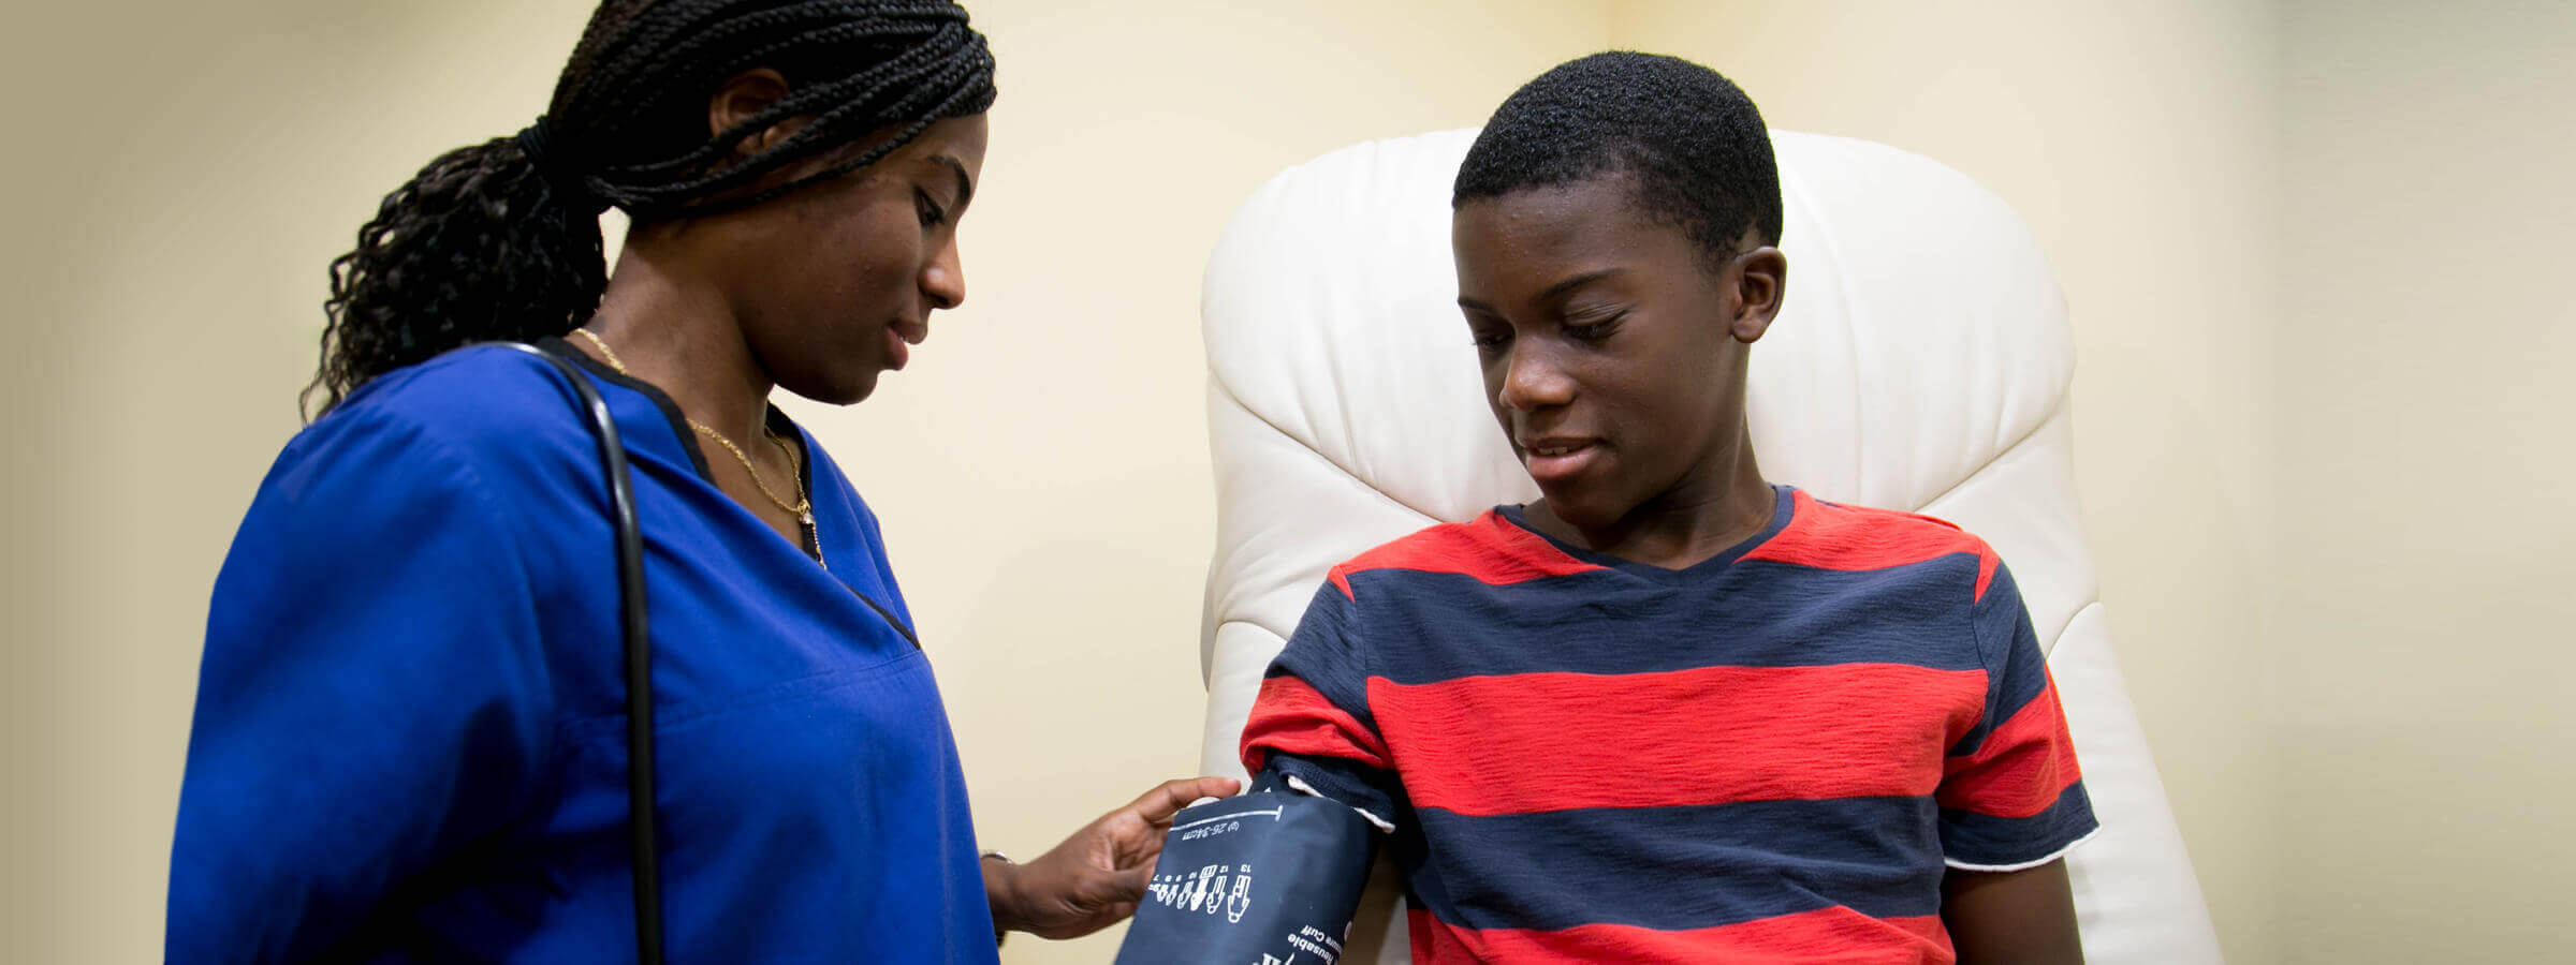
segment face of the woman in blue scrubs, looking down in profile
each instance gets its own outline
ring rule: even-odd
[[[956,226],[984,172],[984,136],[981,113],[945,118],[868,167],[724,216],[726,301],[770,381],[860,401],[930,337],[930,311],[966,301]]]

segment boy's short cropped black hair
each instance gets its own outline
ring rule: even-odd
[[[1458,165],[1450,208],[1600,175],[1633,175],[1638,211],[1680,226],[1710,265],[1744,232],[1780,242],[1762,111],[1716,69],[1662,54],[1579,57],[1515,90]]]

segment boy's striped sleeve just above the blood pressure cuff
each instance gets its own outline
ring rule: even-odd
[[[1291,787],[1352,805],[1394,831],[1406,811],[1404,787],[1368,713],[1368,643],[1358,623],[1352,597],[1324,582],[1252,700],[1244,769],[1278,772]]]

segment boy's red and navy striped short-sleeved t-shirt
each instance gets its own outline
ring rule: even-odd
[[[1945,867],[2094,831],[1994,551],[1790,486],[1690,569],[1517,507],[1360,553],[1242,751],[1394,829],[1414,962],[1953,962]]]

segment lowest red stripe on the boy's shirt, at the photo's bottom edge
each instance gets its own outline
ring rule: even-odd
[[[1935,962],[1958,952],[1940,916],[1870,919],[1816,908],[1716,929],[1656,932],[1579,924],[1561,932],[1458,929],[1430,911],[1406,911],[1417,965],[1481,962]]]

